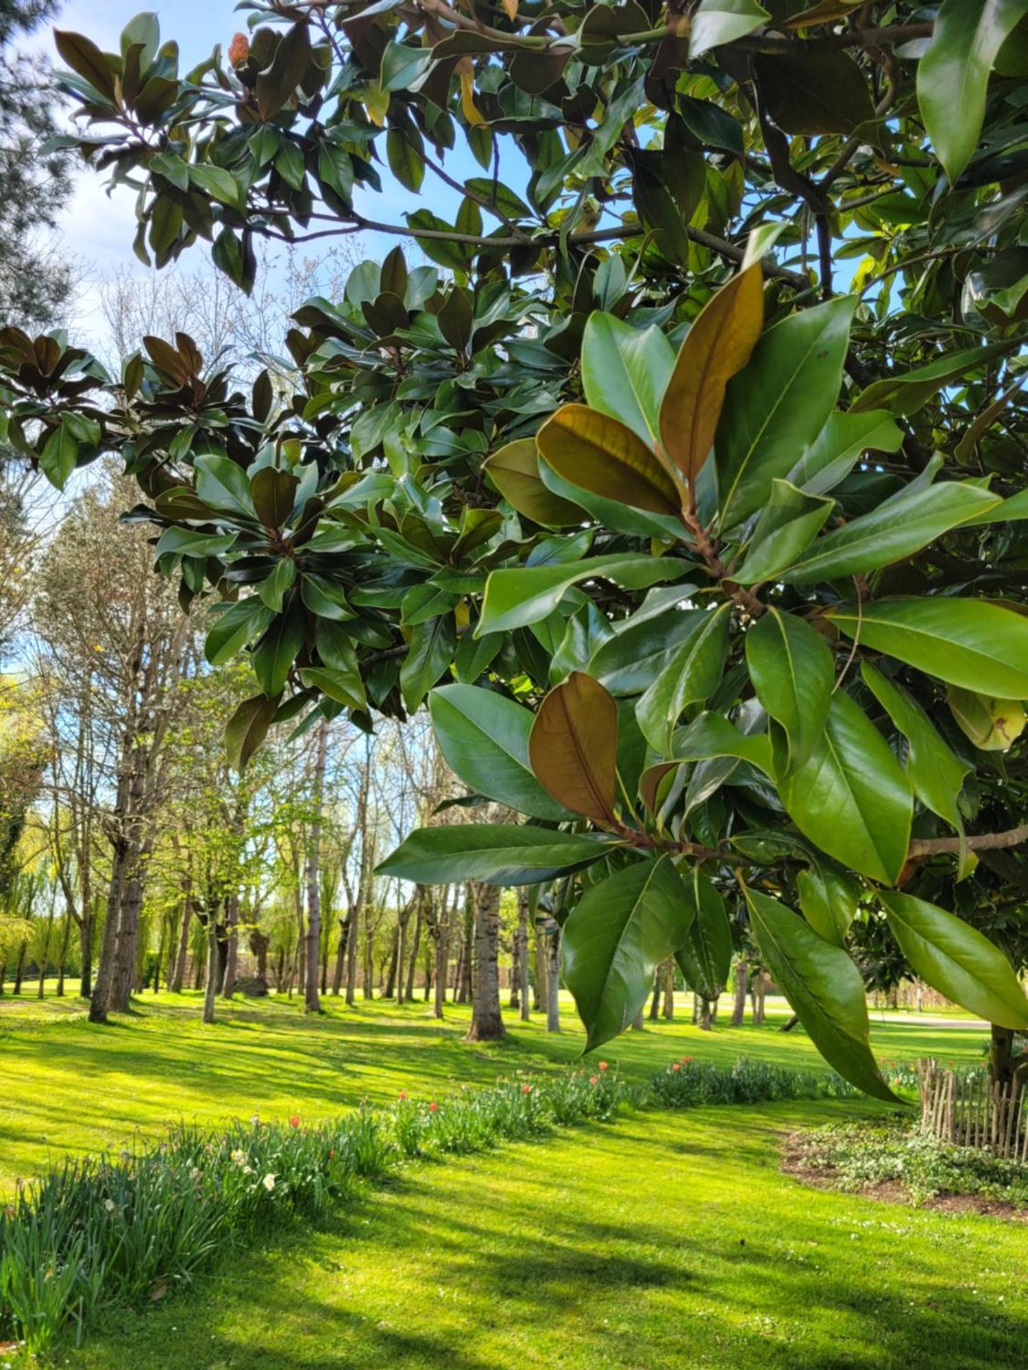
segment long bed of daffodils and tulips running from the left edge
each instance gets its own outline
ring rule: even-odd
[[[217,1252],[399,1164],[603,1122],[629,1099],[614,1070],[572,1071],[313,1125],[177,1128],[154,1149],[66,1160],[0,1211],[0,1336],[41,1351],[73,1323],[81,1338],[97,1308],[160,1299]]]

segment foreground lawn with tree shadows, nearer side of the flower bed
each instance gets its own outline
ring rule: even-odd
[[[400,1178],[123,1314],[82,1370],[1018,1370],[1024,1230],[800,1188],[839,1104],[647,1114]]]

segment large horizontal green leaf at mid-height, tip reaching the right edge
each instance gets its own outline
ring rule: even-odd
[[[1028,618],[988,600],[925,596],[842,604],[825,615],[861,647],[951,685],[1028,699]]]

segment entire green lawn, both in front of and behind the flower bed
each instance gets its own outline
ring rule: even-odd
[[[513,1023],[502,1047],[461,1043],[422,1004],[318,1021],[240,1004],[212,1029],[196,996],[110,1029],[67,1006],[0,1008],[0,1166],[38,1169],[177,1117],[314,1118],[355,1100],[451,1093],[574,1058],[581,1034]],[[885,1059],[977,1059],[984,1033],[873,1029]],[[646,1078],[673,1055],[810,1064],[802,1033],[684,1022],[600,1055]],[[119,1312],[81,1370],[1025,1370],[1028,1229],[807,1189],[783,1175],[796,1126],[872,1103],[646,1112],[551,1140],[403,1171],[317,1230],[222,1259],[188,1293]],[[48,1141],[42,1140],[47,1134]]]

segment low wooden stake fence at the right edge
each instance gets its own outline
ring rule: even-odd
[[[917,1063],[921,1129],[958,1147],[1028,1162],[1028,1089],[984,1074],[958,1075],[938,1062]]]

